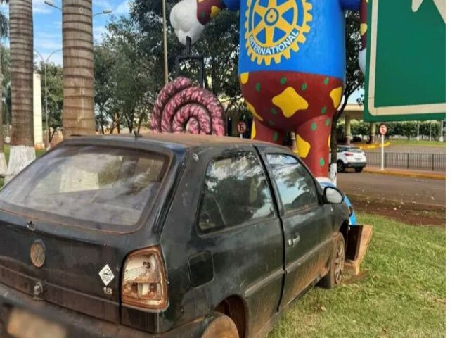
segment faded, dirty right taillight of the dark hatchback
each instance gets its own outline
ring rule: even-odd
[[[122,303],[155,310],[167,306],[167,281],[158,247],[142,249],[127,257]]]

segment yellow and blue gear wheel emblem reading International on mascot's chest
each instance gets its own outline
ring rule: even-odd
[[[302,6],[302,8],[299,8]],[[245,11],[245,48],[253,62],[270,65],[290,58],[299,51],[311,30],[312,5],[307,0],[247,0]]]

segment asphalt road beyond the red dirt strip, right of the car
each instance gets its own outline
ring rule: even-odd
[[[369,173],[340,173],[338,187],[345,194],[445,206],[445,181]]]

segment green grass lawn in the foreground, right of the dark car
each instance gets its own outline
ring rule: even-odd
[[[373,225],[361,270],[333,290],[314,288],[291,304],[269,338],[444,337],[445,229],[359,213]]]

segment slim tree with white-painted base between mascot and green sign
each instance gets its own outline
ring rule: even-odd
[[[361,37],[359,35],[359,12],[347,11],[345,13],[345,85],[344,92],[342,93],[343,101],[339,110],[333,115],[331,123],[331,136],[330,136],[330,178],[335,180],[337,172],[337,160],[338,160],[338,133],[337,125],[338,120],[342,116],[342,113],[347,106],[349,96],[352,95],[357,89],[360,89],[364,85],[364,75],[359,69],[358,54],[361,49]]]

